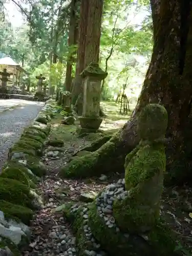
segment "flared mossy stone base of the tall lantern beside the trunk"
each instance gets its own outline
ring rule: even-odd
[[[80,117],[81,128],[77,129],[77,133],[96,133],[102,120],[100,117]]]

